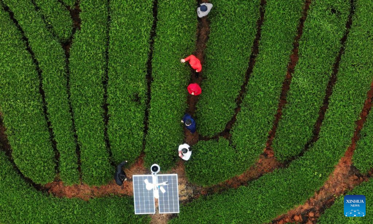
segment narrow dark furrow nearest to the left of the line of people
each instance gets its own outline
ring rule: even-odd
[[[157,22],[158,22],[158,0],[153,1],[153,25],[150,30],[150,50],[149,56],[147,61],[147,68],[146,68],[146,83],[147,83],[147,99],[145,100],[145,118],[144,118],[144,138],[142,140],[142,151],[145,150],[146,145],[146,136],[148,134],[148,125],[149,125],[149,109],[150,109],[150,101],[151,101],[151,83],[153,82],[153,50],[154,50],[154,37],[156,36],[156,29],[157,29]]]

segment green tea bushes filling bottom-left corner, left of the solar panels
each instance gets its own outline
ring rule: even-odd
[[[22,180],[2,151],[0,180],[0,223],[150,223],[148,215],[134,214],[130,197],[86,202],[38,192]]]

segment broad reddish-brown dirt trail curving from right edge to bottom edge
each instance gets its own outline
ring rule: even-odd
[[[360,139],[360,131],[372,109],[372,105],[373,81],[367,93],[367,99],[364,102],[363,110],[360,113],[360,119],[356,121],[356,128],[354,136],[351,139],[351,144],[345,152],[345,155],[339,160],[332,174],[330,174],[328,180],[320,190],[316,191],[314,196],[308,199],[303,205],[281,215],[273,220],[272,223],[316,223],[320,215],[324,213],[325,209],[333,205],[338,196],[344,195],[346,192],[354,189],[355,186],[369,180],[373,174],[373,170],[370,170],[367,175],[362,175],[358,169],[352,165],[352,155],[354,154],[356,142]]]

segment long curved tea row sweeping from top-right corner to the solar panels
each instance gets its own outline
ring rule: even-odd
[[[170,223],[267,223],[303,204],[325,183],[351,144],[355,121],[372,82],[372,65],[367,63],[373,43],[372,37],[367,37],[367,32],[372,32],[368,22],[372,12],[370,1],[356,4],[319,140],[288,168],[265,174],[247,187],[194,200],[182,206],[179,217]],[[367,50],[359,51],[361,48]]]

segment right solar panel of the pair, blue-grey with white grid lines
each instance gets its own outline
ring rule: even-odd
[[[179,187],[178,174],[160,174],[158,183],[167,181],[166,186],[162,186],[165,193],[159,191],[159,213],[179,213]]]

